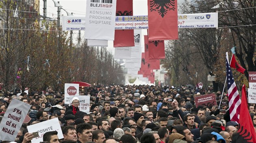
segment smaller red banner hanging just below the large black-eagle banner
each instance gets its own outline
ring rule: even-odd
[[[165,59],[165,41],[155,40],[148,42],[149,59]]]

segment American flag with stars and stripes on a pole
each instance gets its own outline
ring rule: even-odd
[[[227,85],[228,85],[228,104],[230,112],[230,120],[234,122],[239,122],[239,113],[241,106],[241,99],[239,97],[238,90],[236,88],[236,83],[234,82],[232,70],[228,62],[228,52],[226,53],[226,69],[227,69]]]

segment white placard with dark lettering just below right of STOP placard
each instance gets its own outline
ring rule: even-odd
[[[70,104],[72,103],[72,99],[74,97],[78,97],[79,99],[79,110],[83,111],[87,114],[90,112],[90,96],[87,95],[76,95],[76,96],[70,96]]]

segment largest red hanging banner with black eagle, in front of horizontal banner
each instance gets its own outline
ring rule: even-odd
[[[178,39],[177,0],[148,0],[149,40]]]

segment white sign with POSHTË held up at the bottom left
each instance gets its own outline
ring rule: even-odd
[[[58,118],[53,118],[51,120],[33,124],[30,126],[27,126],[27,128],[28,128],[29,133],[38,132],[39,137],[33,138],[31,140],[32,143],[39,143],[40,141],[43,141],[43,135],[46,132],[50,132],[50,131],[54,131],[54,130],[56,130],[58,132],[59,139],[63,139],[63,133],[62,133],[61,125],[59,123]]]

